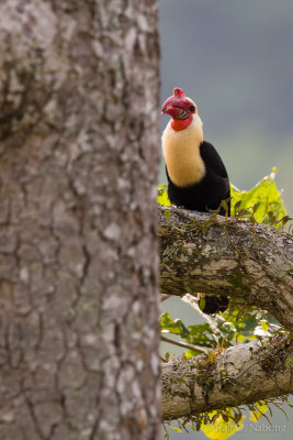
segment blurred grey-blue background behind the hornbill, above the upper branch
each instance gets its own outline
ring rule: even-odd
[[[238,188],[255,186],[277,166],[293,215],[293,1],[159,3],[161,100],[173,87],[195,100],[205,139]]]

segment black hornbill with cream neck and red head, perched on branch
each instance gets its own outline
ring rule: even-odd
[[[201,212],[218,209],[222,216],[229,216],[228,174],[215,147],[203,139],[195,102],[182,89],[174,88],[173,95],[164,102],[161,113],[171,117],[161,138],[171,204]],[[228,298],[205,296],[203,302],[203,311],[212,315],[224,311]]]

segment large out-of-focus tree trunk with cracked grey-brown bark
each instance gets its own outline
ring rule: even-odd
[[[158,438],[156,0],[0,4],[0,438]]]

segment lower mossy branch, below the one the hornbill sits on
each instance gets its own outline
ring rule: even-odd
[[[267,345],[252,341],[219,351],[214,360],[201,355],[162,364],[162,420],[292,394],[293,370],[285,365],[292,348],[283,336]]]

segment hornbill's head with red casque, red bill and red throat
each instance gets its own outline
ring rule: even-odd
[[[199,114],[199,110],[184,90],[174,88],[173,95],[161,106],[161,114],[169,114],[172,118],[174,130],[183,130],[191,123],[193,114]]]

